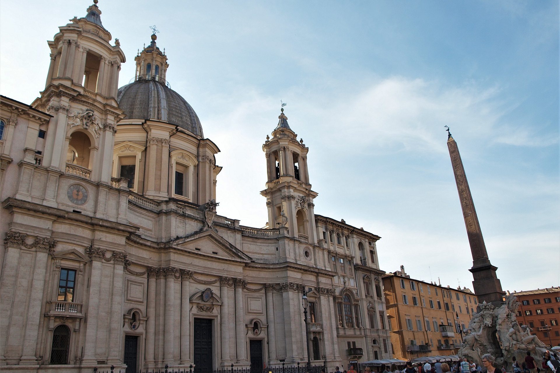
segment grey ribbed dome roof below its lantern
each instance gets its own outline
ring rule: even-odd
[[[141,79],[119,88],[116,99],[125,119],[155,119],[178,125],[204,137],[197,113],[179,93],[164,83]]]

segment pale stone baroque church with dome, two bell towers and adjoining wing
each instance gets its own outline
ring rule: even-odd
[[[268,225],[240,225],[216,214],[220,150],[156,35],[119,88],[97,0],[70,21],[40,96],[0,97],[0,371],[391,358],[380,237],[315,214],[283,110],[262,145]]]

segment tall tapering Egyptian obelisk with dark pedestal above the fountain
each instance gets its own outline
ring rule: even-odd
[[[469,183],[466,181],[463,161],[461,161],[459,148],[451,136],[449,127],[447,128],[447,134],[447,148],[449,148],[455,182],[463,209],[470,252],[473,255],[473,267],[469,271],[473,273],[474,293],[478,296],[479,303],[486,301],[486,303],[497,305],[502,302],[503,295],[502,285],[496,276],[498,267],[494,267],[488,259],[482,230],[480,230],[480,224],[478,223],[477,211],[474,209],[473,196],[470,194]]]

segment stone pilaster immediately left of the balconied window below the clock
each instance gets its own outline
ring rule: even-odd
[[[33,280],[31,284],[31,295],[29,298],[29,311],[25,327],[23,356],[20,364],[37,363],[35,351],[38,345],[39,319],[41,318],[41,308],[43,306],[43,292],[45,287],[45,272],[48,254],[54,248],[55,240],[37,238],[35,240],[35,266]]]

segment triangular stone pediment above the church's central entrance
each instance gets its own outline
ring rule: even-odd
[[[170,244],[176,248],[215,257],[240,259],[242,261],[251,260],[250,256],[228,242],[213,229],[195,232],[186,237],[175,239]]]

